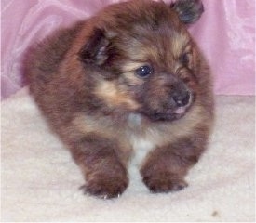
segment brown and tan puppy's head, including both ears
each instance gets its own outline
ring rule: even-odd
[[[95,97],[153,121],[181,118],[202,87],[201,57],[186,30],[202,12],[199,0],[136,0],[101,11],[79,51],[85,71],[97,71]]]

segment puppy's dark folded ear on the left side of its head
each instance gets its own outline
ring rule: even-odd
[[[96,28],[93,30],[88,42],[80,49],[78,55],[82,62],[102,65],[108,59],[107,47],[110,41],[104,32]]]

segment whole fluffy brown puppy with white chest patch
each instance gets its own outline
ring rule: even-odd
[[[152,192],[187,186],[213,121],[209,66],[187,31],[202,12],[199,0],[123,2],[30,50],[30,90],[85,192],[119,196],[132,157]]]

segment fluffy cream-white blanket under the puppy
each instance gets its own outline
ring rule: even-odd
[[[185,190],[152,194],[130,168],[118,199],[84,195],[84,179],[27,89],[2,102],[2,221],[255,221],[254,97],[216,99],[216,125]]]

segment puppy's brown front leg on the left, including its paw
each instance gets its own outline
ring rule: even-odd
[[[88,134],[73,143],[72,153],[85,174],[85,192],[114,198],[128,187],[128,173],[118,157],[115,140]]]

